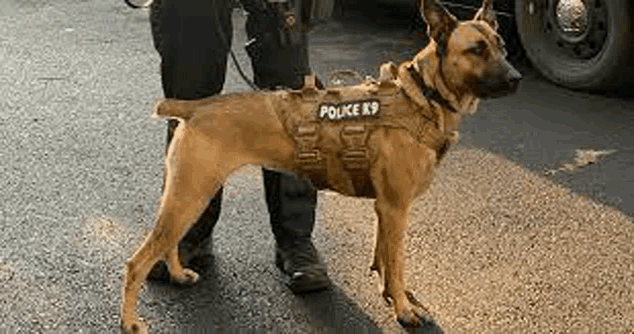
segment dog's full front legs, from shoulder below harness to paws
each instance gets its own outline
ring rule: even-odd
[[[432,155],[402,130],[384,128],[376,131],[369,142],[370,147],[379,148],[370,171],[379,218],[372,269],[382,275],[383,297],[394,306],[398,322],[419,327],[432,320],[425,307],[405,289],[403,249],[410,206],[421,188],[420,177],[431,173],[421,166],[429,165]]]

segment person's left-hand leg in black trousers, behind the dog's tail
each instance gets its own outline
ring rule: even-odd
[[[227,66],[229,46],[225,41],[231,41],[232,37],[231,8],[227,1],[211,1],[196,7],[178,1],[155,0],[150,12],[154,45],[161,55],[164,95],[167,98],[199,99],[218,94],[225,81]],[[224,19],[214,20],[213,10],[218,10],[218,17]],[[177,120],[168,121],[166,149],[177,126]],[[180,241],[179,255],[184,266],[208,248],[220,216],[221,203],[222,189]],[[157,264],[148,278],[169,281],[165,263]]]

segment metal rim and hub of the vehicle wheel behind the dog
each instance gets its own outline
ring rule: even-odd
[[[608,35],[606,0],[529,2],[532,15],[544,17],[541,32],[547,44],[568,58],[589,60],[605,46]]]

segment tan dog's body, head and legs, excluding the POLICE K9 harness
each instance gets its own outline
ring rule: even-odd
[[[380,80],[396,82],[420,112],[434,112],[452,143],[463,116],[472,114],[480,98],[514,93],[521,75],[505,59],[491,0],[475,17],[458,21],[437,0],[424,0],[421,14],[428,24],[429,44],[400,64],[384,66]],[[183,268],[178,243],[210,198],[235,169],[256,164],[293,170],[296,144],[287,134],[271,102],[275,92],[229,94],[198,101],[162,100],[155,114],[180,120],[165,158],[166,180],[155,227],[126,262],[121,327],[146,332],[136,304],[148,272],[160,260],[172,279],[194,283],[198,274]],[[279,104],[277,104],[279,107]],[[417,141],[410,132],[385,127],[374,131],[368,146],[376,148],[369,168],[375,191],[378,232],[374,263],[383,281],[383,297],[405,327],[432,322],[430,313],[405,287],[403,249],[412,202],[430,185],[441,149]]]

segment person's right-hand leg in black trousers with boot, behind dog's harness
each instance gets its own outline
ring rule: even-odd
[[[310,72],[308,41],[305,31],[280,43],[277,29],[267,31],[275,22],[250,13],[247,20],[249,39],[256,46],[249,50],[255,84],[260,88],[283,86],[300,88]],[[263,169],[266,203],[276,240],[276,264],[290,278],[294,293],[324,289],[330,285],[326,266],[311,240],[315,224],[317,192],[310,182],[294,175]]]

